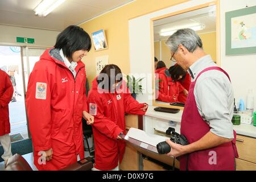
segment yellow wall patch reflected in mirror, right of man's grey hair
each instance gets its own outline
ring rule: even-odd
[[[199,36],[203,42],[204,51],[216,62],[216,32],[199,34]]]

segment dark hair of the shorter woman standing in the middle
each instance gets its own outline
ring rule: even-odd
[[[102,73],[102,75],[101,75],[101,73]],[[105,76],[108,77],[106,80],[105,80]],[[112,92],[113,91],[113,90],[111,90],[112,84],[114,84],[116,81],[119,82],[122,80],[123,80],[123,77],[122,77],[121,69],[115,64],[108,64],[108,65],[105,65],[105,67],[100,72],[97,82],[98,82],[98,84],[101,83],[102,89],[106,89],[106,90],[109,90]],[[108,88],[106,88],[106,86],[108,86]]]

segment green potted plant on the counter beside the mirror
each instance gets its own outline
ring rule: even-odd
[[[136,96],[139,93],[142,93],[142,85],[141,85],[141,81],[144,78],[135,78],[134,76],[126,76],[127,78],[127,88],[129,88],[130,92],[131,92],[131,96],[133,96],[133,98],[136,100]]]

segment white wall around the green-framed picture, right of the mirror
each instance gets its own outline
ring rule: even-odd
[[[229,73],[234,94],[238,102],[242,98],[246,102],[248,89],[254,91],[254,110],[256,110],[256,55],[225,56],[225,13],[228,11],[243,9],[247,6],[256,6],[255,0],[233,1],[221,0],[221,67]]]

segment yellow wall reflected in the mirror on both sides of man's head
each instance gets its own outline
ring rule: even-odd
[[[213,61],[216,61],[216,32],[209,32],[207,34],[199,34],[202,42],[204,51],[212,56]],[[166,40],[162,40],[162,61],[166,64],[166,67],[171,66],[171,53],[166,46]],[[155,42],[155,55],[159,55],[159,42]],[[159,55],[160,57],[160,55]],[[158,59],[160,60],[160,59]]]

